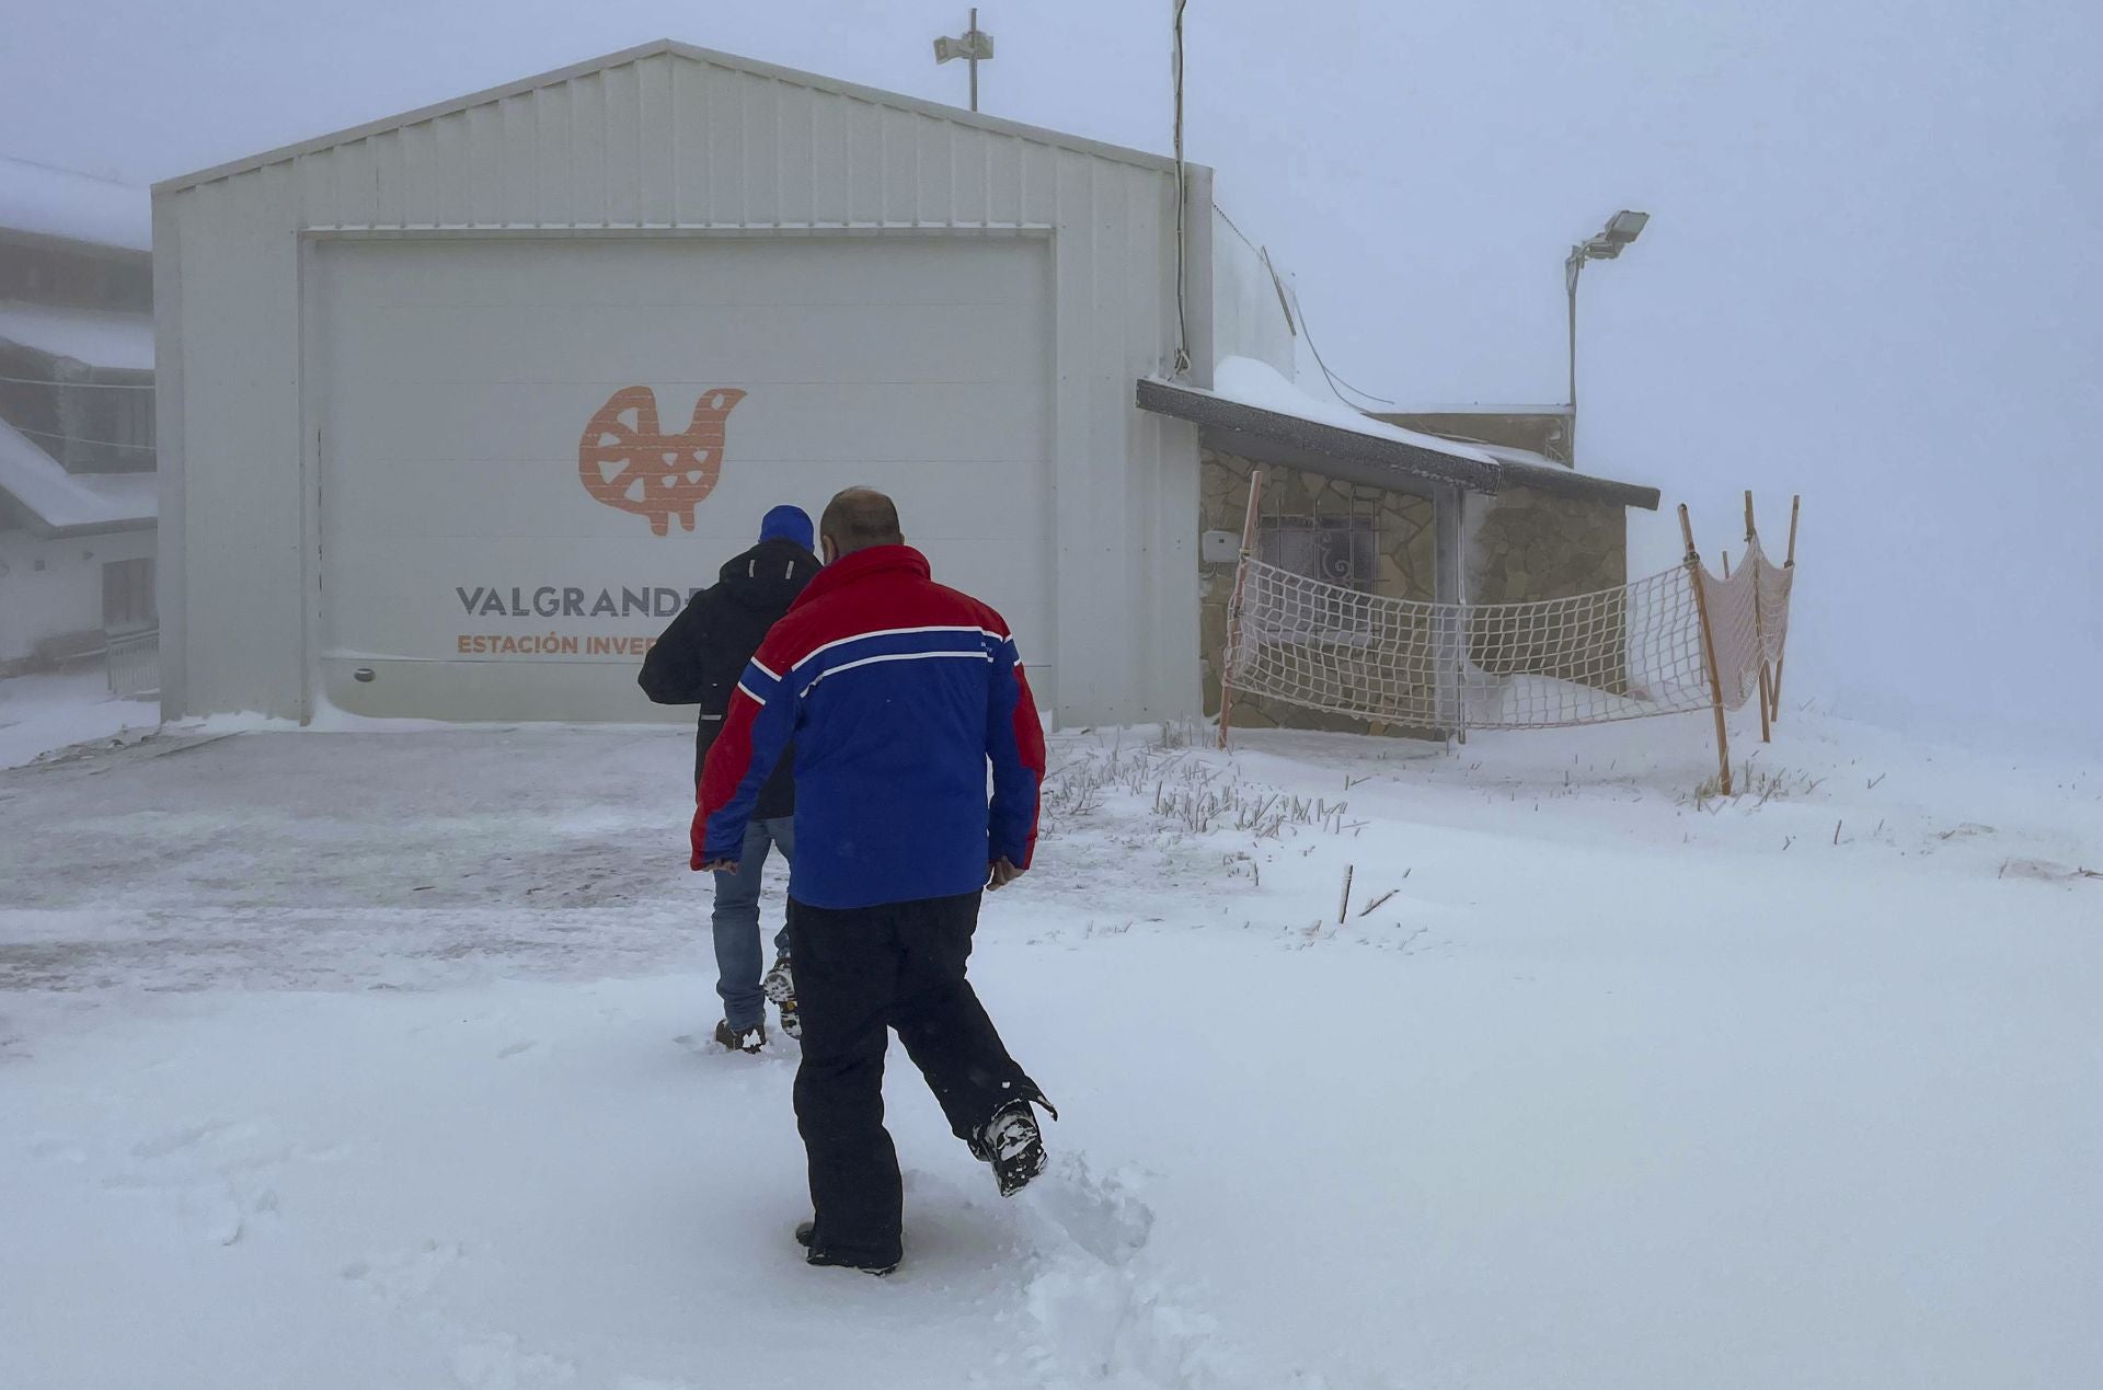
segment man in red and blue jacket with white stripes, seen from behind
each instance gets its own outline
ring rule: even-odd
[[[930,578],[887,496],[841,492],[818,538],[824,570],[759,646],[709,751],[694,868],[736,866],[759,789],[795,742],[789,959],[814,1207],[797,1239],[812,1264],[885,1274],[902,1255],[887,1028],[1003,1194],[1043,1171],[1030,1104],[1052,1106],[965,961],[980,892],[1030,866],[1045,742],[1001,614]]]

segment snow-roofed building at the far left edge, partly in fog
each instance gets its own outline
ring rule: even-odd
[[[156,507],[147,193],[0,158],[0,673],[151,641]]]

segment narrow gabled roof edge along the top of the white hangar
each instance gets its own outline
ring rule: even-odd
[[[469,93],[467,97],[454,97],[452,101],[440,101],[437,105],[418,107],[414,111],[404,111],[400,116],[389,116],[385,120],[366,122],[362,126],[351,126],[347,130],[334,130],[330,135],[318,135],[309,141],[297,145],[282,145],[278,149],[267,149],[263,154],[248,156],[244,160],[233,160],[229,164],[215,164],[212,168],[200,168],[191,175],[179,175],[175,179],[164,179],[154,185],[154,193],[175,193],[181,189],[198,187],[200,183],[215,183],[219,179],[231,179],[233,175],[246,175],[257,168],[267,168],[271,164],[284,164],[286,160],[297,160],[301,156],[320,154],[322,149],[334,149],[336,145],[351,145],[374,135],[385,135],[387,130],[400,130],[404,126],[418,126],[427,120],[437,120],[442,116],[454,116],[471,107],[488,105],[492,101],[503,101],[507,97],[522,97],[526,93],[538,90],[543,86],[557,86],[562,82],[574,82],[576,78],[608,71],[612,67],[627,67],[631,63],[641,63],[654,57],[677,57],[692,63],[707,63],[709,67],[723,67],[730,71],[740,71],[755,78],[768,78],[772,82],[787,82],[791,86],[803,86],[820,93],[833,93],[839,97],[854,97],[871,105],[890,107],[896,111],[913,111],[915,116],[932,116],[936,120],[946,120],[959,126],[972,126],[976,130],[988,130],[993,135],[1014,135],[1039,145],[1052,145],[1056,149],[1073,149],[1075,154],[1089,154],[1102,160],[1115,160],[1119,164],[1134,164],[1138,168],[1150,168],[1159,172],[1173,172],[1176,162],[1167,156],[1146,154],[1144,149],[1127,149],[1123,145],[1108,145],[1102,141],[1083,139],[1079,135],[1062,135],[1058,130],[1045,130],[1041,126],[1028,126],[1018,120],[1003,120],[999,116],[984,116],[980,111],[965,111],[961,107],[942,105],[940,101],[923,101],[919,97],[906,97],[902,93],[887,93],[877,86],[860,86],[856,82],[841,82],[839,78],[824,78],[810,71],[797,71],[795,67],[780,67],[776,63],[761,63],[759,59],[738,57],[734,53],[717,53],[715,48],[700,48],[696,44],[683,44],[675,38],[660,38],[650,44],[639,44],[635,48],[622,48],[618,53],[608,53],[604,57],[587,59],[570,67],[557,67],[555,71],[543,71],[532,78],[519,78],[517,82],[507,82],[503,86],[492,86],[488,90]]]

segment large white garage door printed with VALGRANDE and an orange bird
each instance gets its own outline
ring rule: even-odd
[[[646,643],[761,513],[898,498],[1052,696],[1049,269],[1003,240],[332,242],[322,692],[637,719]]]

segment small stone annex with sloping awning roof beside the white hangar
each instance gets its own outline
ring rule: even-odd
[[[1401,425],[1401,416],[1352,416],[1321,402],[1306,412],[1279,410],[1289,397],[1258,391],[1264,404],[1171,383],[1142,383],[1140,404],[1180,414],[1201,427],[1199,528],[1201,555],[1199,652],[1205,713],[1220,711],[1220,675],[1228,641],[1228,610],[1249,519],[1249,475],[1264,473],[1255,517],[1255,555],[1384,599],[1468,604],[1464,639],[1470,667],[1493,675],[1579,679],[1626,692],[1624,635],[1613,622],[1577,633],[1544,665],[1537,643],[1525,646],[1525,620],[1499,614],[1499,604],[1613,591],[1628,582],[1628,507],[1657,507],[1657,490],[1577,473],[1527,444],[1552,442],[1548,410],[1497,410],[1466,416],[1441,412],[1441,423],[1468,440],[1438,437]],[[1506,418],[1508,416],[1508,418]],[[1417,416],[1407,416],[1411,423]],[[1512,444],[1514,431],[1527,433]],[[1546,433],[1544,433],[1546,431]],[[1535,437],[1537,435],[1537,437]],[[1565,437],[1565,435],[1554,435]],[[1377,681],[1394,681],[1396,665],[1382,652],[1436,646],[1426,612],[1392,616],[1380,610],[1380,631],[1363,643],[1335,643],[1310,662],[1310,690],[1321,704],[1367,707]],[[1426,669],[1415,662],[1413,669]],[[1436,692],[1386,690],[1420,709],[1438,709]],[[1340,730],[1443,738],[1449,728],[1356,719],[1298,702],[1234,696],[1243,728]]]

